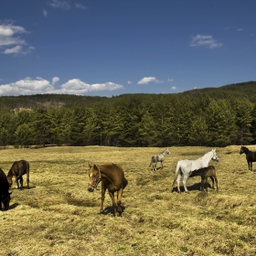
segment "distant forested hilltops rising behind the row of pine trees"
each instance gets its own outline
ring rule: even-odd
[[[141,101],[155,101],[159,94],[123,94],[113,96],[112,98],[99,96],[79,96],[69,94],[36,94],[25,96],[2,96],[0,97],[0,107],[2,109],[33,109],[33,108],[49,108],[64,107],[72,108],[74,106],[91,107],[95,103],[103,105],[111,104],[130,97],[140,98]],[[165,97],[172,97],[174,94],[165,94]],[[230,97],[243,97],[249,99],[252,103],[256,103],[256,81],[248,81],[236,84],[229,84],[219,88],[195,89],[175,93],[176,96],[192,96],[192,97],[210,97],[214,99],[227,99]]]

